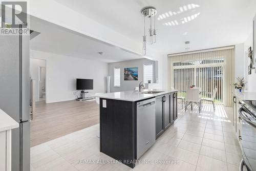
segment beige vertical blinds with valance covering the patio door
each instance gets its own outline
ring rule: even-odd
[[[217,88],[215,101],[231,106],[233,48],[168,56],[169,88],[178,90],[179,96],[194,85],[201,97],[210,98]]]

